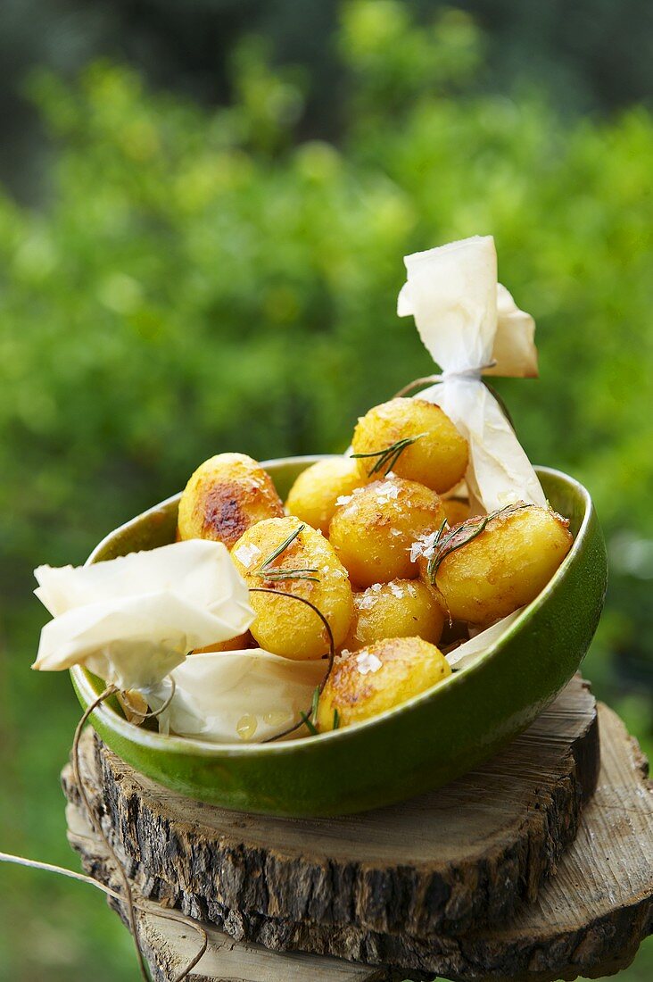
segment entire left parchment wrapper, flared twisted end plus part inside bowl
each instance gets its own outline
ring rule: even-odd
[[[249,591],[222,543],[192,539],[87,567],[42,566],[35,575],[34,592],[53,620],[32,668],[83,665],[120,691],[140,692],[163,733],[269,738],[299,719],[324,678],[324,662],[260,648],[187,658],[253,621]]]

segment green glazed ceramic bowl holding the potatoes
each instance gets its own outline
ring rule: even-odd
[[[317,457],[264,464],[285,496]],[[495,646],[435,688],[358,726],[281,743],[216,745],[160,736],[117,707],[91,719],[102,739],[147,777],[225,808],[289,816],[363,811],[446,784],[527,727],[569,682],[598,624],[606,589],[603,535],[589,494],[567,474],[538,468],[574,543],[561,568]],[[179,496],[111,532],[89,563],[175,537]],[[102,683],[72,670],[86,707]]]

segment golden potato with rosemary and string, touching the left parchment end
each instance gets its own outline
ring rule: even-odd
[[[267,563],[291,536],[287,547]],[[314,604],[327,619],[336,647],[342,644],[354,609],[352,587],[347,571],[320,532],[299,518],[267,518],[241,536],[232,559],[247,586],[266,586],[280,594],[249,594],[256,614],[250,630],[261,648],[299,660],[321,658],[329,650],[317,614],[283,593],[297,593]]]

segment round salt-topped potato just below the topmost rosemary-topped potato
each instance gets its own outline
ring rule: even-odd
[[[440,498],[423,484],[401,477],[373,481],[336,509],[329,538],[358,586],[411,579],[417,567],[412,543],[445,519]]]

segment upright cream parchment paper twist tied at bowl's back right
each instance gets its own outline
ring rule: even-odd
[[[532,465],[480,378],[537,375],[535,324],[497,281],[493,238],[415,252],[405,262],[408,279],[397,312],[413,315],[442,369],[442,381],[417,398],[444,409],[469,443],[465,480],[472,510],[493,512],[517,501],[545,507]]]

